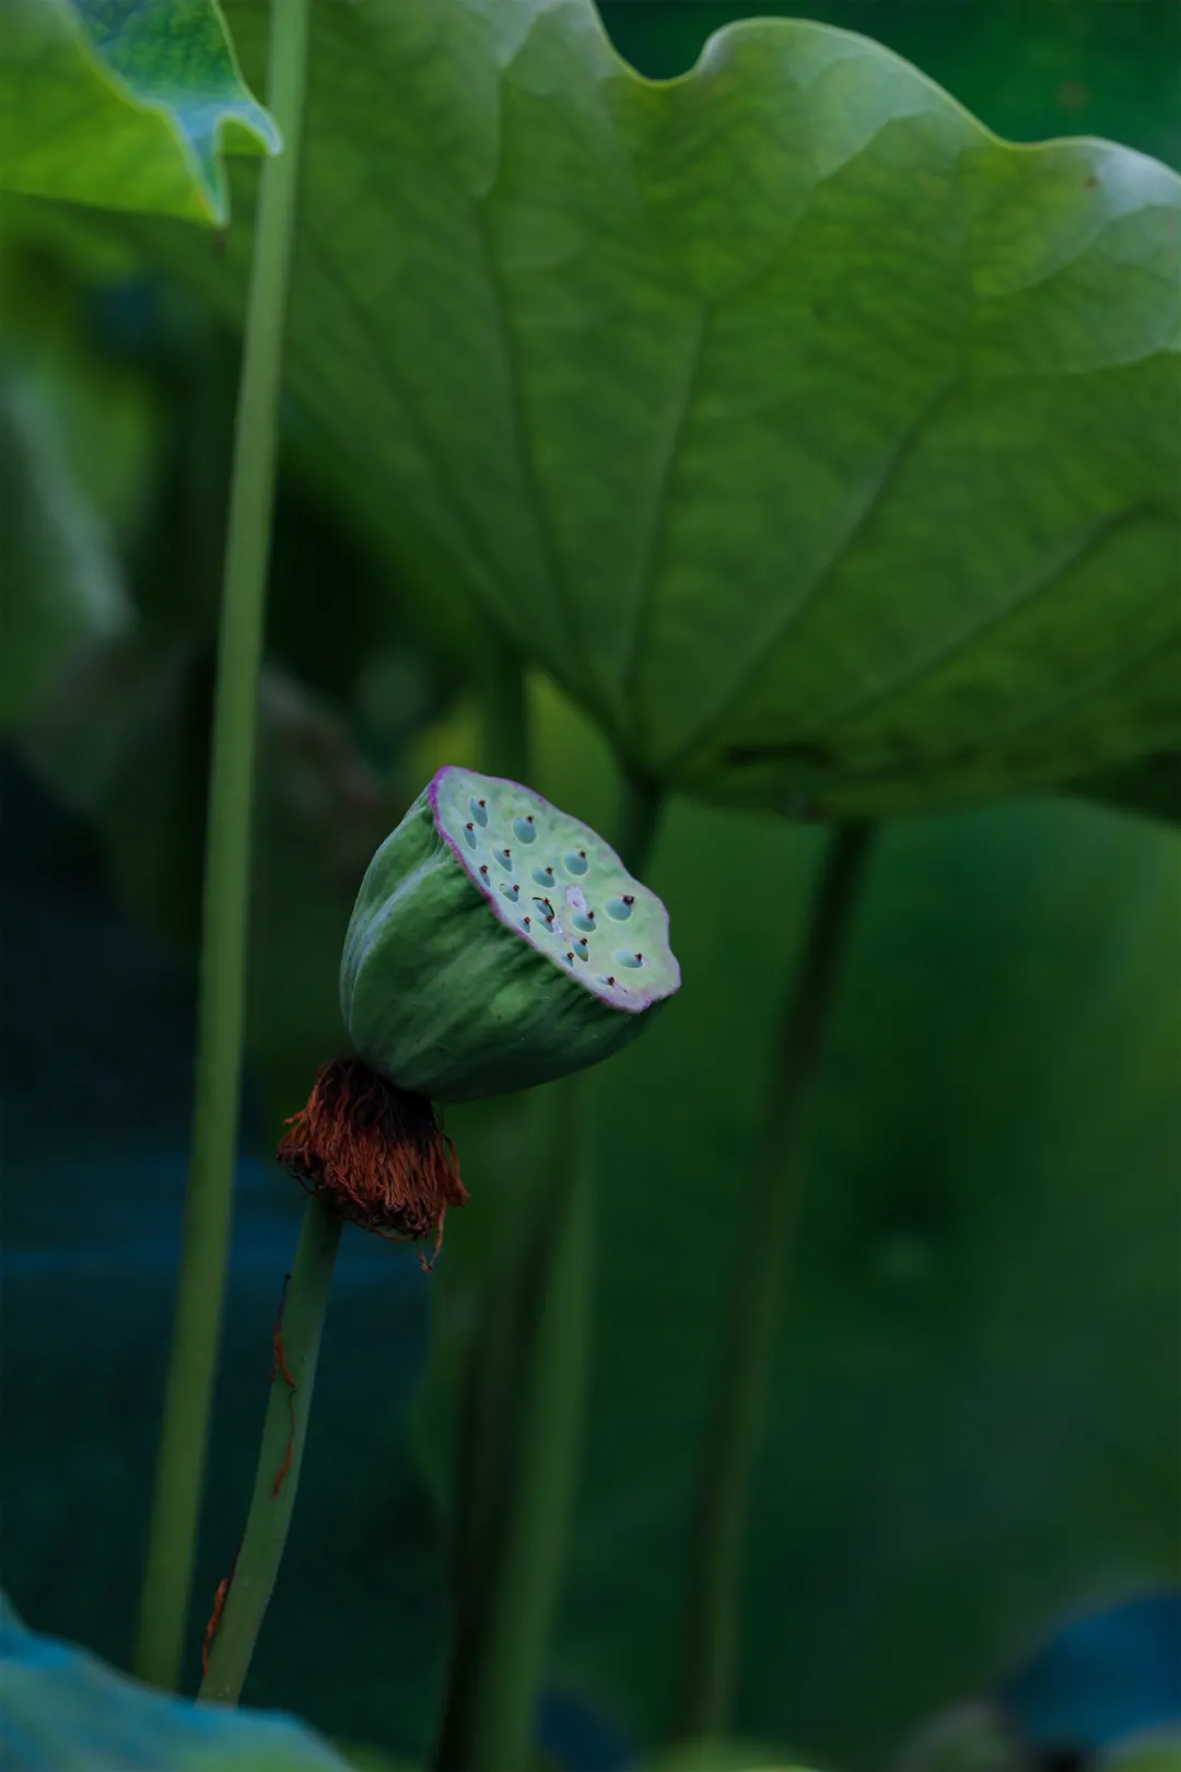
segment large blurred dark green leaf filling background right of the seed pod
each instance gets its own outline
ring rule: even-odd
[[[593,819],[588,758],[544,712],[538,787]],[[848,1768],[891,1763],[1064,1609],[1177,1574],[1181,843],[1066,801],[878,843],[804,1127],[733,1719]],[[685,992],[595,1079],[597,1364],[552,1673],[652,1745],[818,852],[814,831],[673,804],[646,877]],[[436,1478],[522,1161],[506,1113],[450,1131],[471,1201],[434,1281]]]

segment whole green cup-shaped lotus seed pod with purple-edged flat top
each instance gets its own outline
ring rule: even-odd
[[[340,966],[358,1056],[443,1102],[598,1063],[678,987],[664,905],[595,831],[457,767],[374,856]]]

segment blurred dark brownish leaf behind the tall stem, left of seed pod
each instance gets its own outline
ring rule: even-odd
[[[212,656],[182,636],[92,649],[21,748],[87,815],[108,877],[149,929],[197,950]],[[361,875],[409,796],[340,718],[269,666],[260,688],[248,1047],[267,1125],[343,1045],[336,968]]]

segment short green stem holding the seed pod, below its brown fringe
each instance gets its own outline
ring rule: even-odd
[[[315,1194],[308,1196],[296,1263],[280,1311],[271,1400],[262,1423],[246,1535],[209,1652],[209,1673],[200,1689],[204,1699],[223,1705],[235,1705],[241,1696],[287,1543],[342,1223],[329,1205]]]

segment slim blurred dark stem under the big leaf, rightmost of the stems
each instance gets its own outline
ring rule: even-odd
[[[742,1549],[751,1471],[758,1451],[783,1299],[788,1247],[802,1196],[795,1161],[800,1106],[816,1065],[853,923],[871,828],[850,824],[829,845],[806,948],[777,1042],[767,1111],[749,1182],[729,1324],[692,1535],[678,1737],[726,1733],[738,1666]]]

